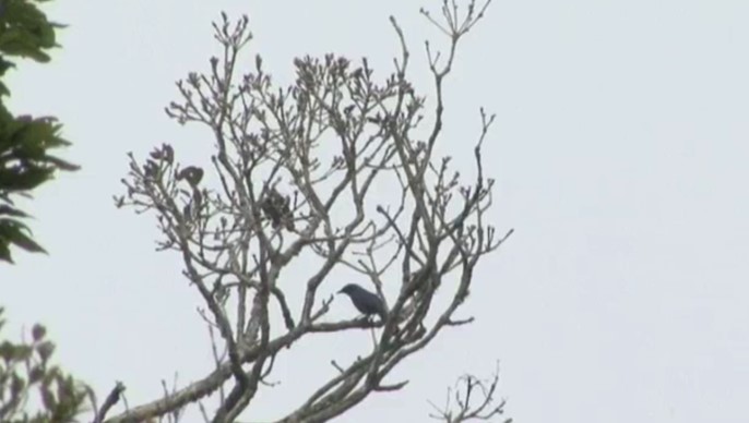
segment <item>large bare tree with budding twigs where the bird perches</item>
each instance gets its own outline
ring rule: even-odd
[[[211,59],[210,72],[178,82],[181,98],[166,108],[179,123],[211,130],[210,164],[180,165],[170,145],[145,161],[131,155],[128,192],[116,198],[119,206],[153,211],[159,247],[181,256],[185,277],[205,303],[216,367],[107,421],[174,415],[214,392],[219,406],[203,409],[206,421],[235,421],[282,350],[320,333],[381,328],[367,355],[347,365],[333,362],[338,374],[277,418],[323,422],[373,391],[401,389],[407,380],[387,380],[393,368],[442,329],[473,321],[456,312],[474,269],[512,233],[498,237],[484,217],[494,181],[484,174],[482,144],[494,116],[480,112],[475,179],[462,179],[435,147],[456,47],[488,4],[444,1],[441,19],[421,10],[449,41],[444,55],[426,44],[433,108],[408,82],[411,55],[393,17],[401,53],[384,81],[372,77],[366,59],[353,64],[329,55],[296,59],[295,83],[277,87],[260,56],[252,71],[240,74],[240,51],[252,39],[248,17],[230,22],[223,14],[214,24],[223,56]],[[396,195],[372,196],[376,184]],[[319,267],[304,286],[285,283],[283,270],[302,253],[319,257]],[[320,299],[319,289],[338,267],[360,274],[383,300],[383,287],[399,283],[384,322],[324,318],[332,297]],[[304,290],[298,304],[287,300],[293,290]],[[433,303],[438,290],[450,295],[441,310]],[[275,307],[283,317],[277,322]]]

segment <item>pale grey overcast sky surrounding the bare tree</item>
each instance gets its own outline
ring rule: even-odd
[[[100,396],[124,382],[131,406],[160,395],[175,372],[180,383],[204,374],[197,293],[174,255],[154,252],[154,219],[114,207],[126,153],[169,142],[206,157],[204,132],[163,108],[177,98],[176,80],[207,69],[219,11],[249,14],[251,52],[281,81],[294,57],[328,51],[367,56],[389,72],[393,14],[412,46],[412,75],[428,87],[421,43],[443,39],[420,5],[429,2],[47,7],[70,24],[63,48],[51,64],[11,76],[11,107],[59,117],[74,143],[63,156],[83,169],[31,206],[50,255],[19,252],[16,266],[3,266],[3,336],[47,324],[67,370]],[[462,373],[488,375],[499,360],[516,422],[746,422],[747,22],[749,2],[738,0],[495,0],[449,80],[442,147],[474,140],[479,106],[497,113],[486,146],[498,183],[491,218],[516,233],[477,271],[461,312],[477,322],[407,361],[394,377],[411,379],[402,392],[374,395],[336,421],[429,421],[428,399],[441,402]],[[350,304],[333,312],[344,317]],[[281,416],[329,377],[333,356],[317,351],[367,348],[366,333],[346,335],[350,343],[295,346],[281,385],[249,418]]]

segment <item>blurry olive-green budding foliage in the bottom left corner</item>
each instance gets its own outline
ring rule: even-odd
[[[0,307],[0,329],[4,325]],[[90,389],[50,364],[55,345],[46,339],[44,326],[34,325],[31,342],[0,342],[0,422],[73,422],[86,411]],[[38,395],[40,410],[28,409],[29,397]]]

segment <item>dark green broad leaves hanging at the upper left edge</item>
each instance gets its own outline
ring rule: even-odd
[[[15,67],[9,58],[46,63],[50,60],[48,50],[58,46],[55,31],[62,25],[49,22],[37,8],[45,1],[0,0],[0,261],[11,263],[11,245],[45,252],[22,221],[28,215],[13,200],[29,196],[31,191],[52,179],[57,170],[78,169],[50,154],[55,148],[70,145],[60,136],[62,125],[55,118],[15,117],[2,102],[4,96],[10,96],[2,78]]]

